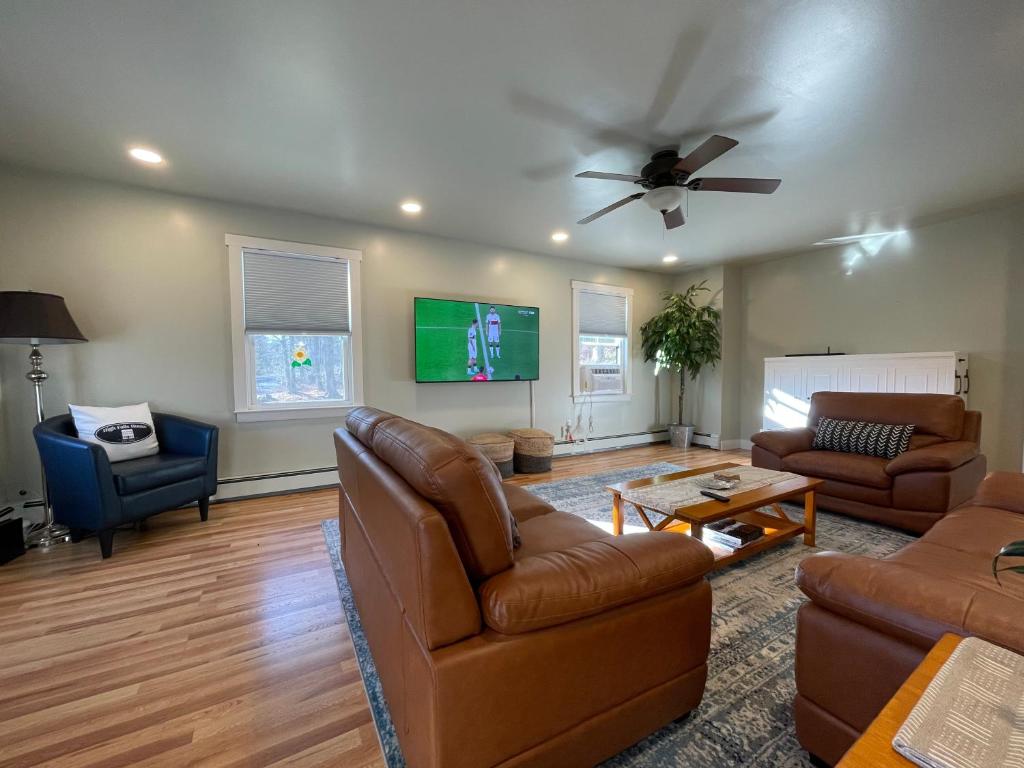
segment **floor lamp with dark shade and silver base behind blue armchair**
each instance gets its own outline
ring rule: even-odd
[[[43,355],[39,351],[42,344],[75,344],[87,341],[72,319],[62,296],[32,291],[0,291],[0,343],[29,344],[29,365],[32,370],[26,378],[32,382],[36,394],[36,423],[43,420]],[[42,469],[43,511],[46,515],[42,523],[34,525],[26,536],[30,547],[50,547],[71,539],[65,525],[53,522],[53,508],[50,507],[46,492],[46,472]]]

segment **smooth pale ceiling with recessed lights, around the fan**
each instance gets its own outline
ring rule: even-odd
[[[1022,51],[1020,0],[0,0],[0,159],[678,268],[1024,188]],[[779,190],[573,223],[712,132]]]

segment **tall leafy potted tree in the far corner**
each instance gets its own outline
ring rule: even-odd
[[[683,424],[687,378],[695,379],[701,368],[722,358],[722,312],[695,301],[698,294],[711,291],[706,284],[690,286],[684,293],[666,293],[665,309],[640,327],[644,361],[655,364],[654,375],[663,368],[679,374],[679,421],[669,426],[674,447],[689,447],[693,439],[693,425]]]

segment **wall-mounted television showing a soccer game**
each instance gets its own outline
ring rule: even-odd
[[[535,381],[541,311],[484,301],[415,299],[416,380]]]

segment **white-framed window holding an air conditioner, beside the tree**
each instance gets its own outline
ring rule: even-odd
[[[572,281],[572,396],[630,395],[633,291]]]

